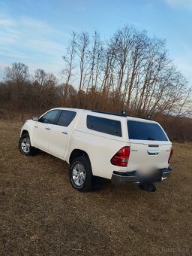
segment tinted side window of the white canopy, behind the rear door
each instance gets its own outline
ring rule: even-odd
[[[95,117],[92,115],[87,116],[87,127],[101,133],[121,137],[121,122],[118,120]]]

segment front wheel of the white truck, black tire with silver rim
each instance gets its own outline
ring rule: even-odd
[[[36,148],[31,147],[30,137],[28,133],[23,134],[19,140],[20,152],[26,156],[33,156],[36,153]]]

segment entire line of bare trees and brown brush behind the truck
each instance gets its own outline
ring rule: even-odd
[[[124,109],[130,115],[174,121],[191,115],[191,87],[169,59],[161,38],[150,38],[133,26],[118,29],[107,41],[98,32],[93,36],[73,32],[62,57],[62,84],[43,69],[29,75],[23,63],[5,68],[0,108],[31,112],[55,106]]]

